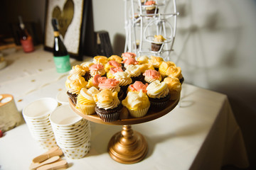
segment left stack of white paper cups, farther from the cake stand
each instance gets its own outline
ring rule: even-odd
[[[28,129],[43,149],[57,146],[49,120],[50,113],[57,107],[58,102],[54,98],[41,98],[23,108],[22,114]]]

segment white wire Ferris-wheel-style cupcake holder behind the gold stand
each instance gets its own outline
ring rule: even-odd
[[[146,13],[149,7],[154,8],[150,14]],[[154,55],[170,60],[176,35],[177,15],[175,0],[156,0],[153,6],[146,5],[146,0],[125,0],[124,52],[134,52],[137,56]],[[166,39],[157,51],[151,50],[154,35],[162,35]]]

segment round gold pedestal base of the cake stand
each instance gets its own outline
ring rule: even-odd
[[[112,136],[108,145],[110,157],[122,164],[140,162],[147,151],[148,146],[143,135],[133,131],[131,125],[123,125],[122,131]]]

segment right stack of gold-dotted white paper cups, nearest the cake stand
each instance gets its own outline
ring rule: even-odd
[[[79,159],[90,151],[90,123],[69,105],[59,106],[50,114],[55,140],[66,157]]]

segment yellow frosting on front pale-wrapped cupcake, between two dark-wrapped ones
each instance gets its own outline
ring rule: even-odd
[[[122,101],[122,105],[129,110],[138,111],[144,108],[149,108],[150,102],[148,96],[141,91],[129,91],[127,97]]]

